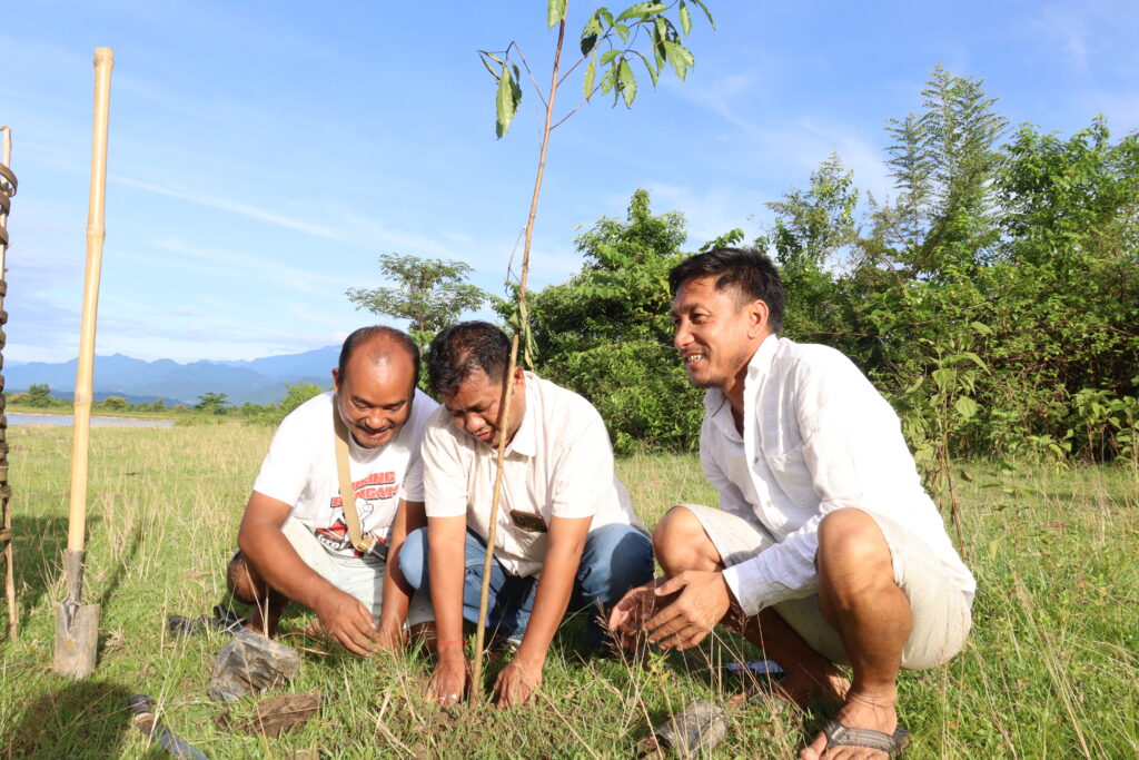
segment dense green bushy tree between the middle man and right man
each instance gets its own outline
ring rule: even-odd
[[[531,295],[539,373],[589,399],[620,453],[696,443],[702,391],[672,348],[667,281],[686,238],[681,214],[653,215],[637,190],[624,221],[603,216],[577,237],[580,273]]]

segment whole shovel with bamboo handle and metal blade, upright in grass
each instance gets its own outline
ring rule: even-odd
[[[95,669],[99,640],[98,604],[83,604],[83,540],[87,532],[87,453],[91,428],[91,376],[95,374],[95,324],[103,267],[104,195],[107,187],[107,112],[115,54],[95,49],[95,134],[91,144],[91,201],[87,210],[87,277],[75,377],[75,435],[72,444],[71,508],[64,578],[67,598],[56,606],[56,673],[85,678]]]

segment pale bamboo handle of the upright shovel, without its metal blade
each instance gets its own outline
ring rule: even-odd
[[[91,427],[91,377],[95,374],[95,325],[99,310],[99,273],[103,269],[104,197],[107,188],[107,114],[110,105],[110,70],[115,54],[95,49],[95,126],[91,141],[91,194],[87,210],[87,277],[83,280],[83,317],[80,327],[79,369],[75,374],[75,434],[72,444],[71,508],[67,514],[67,548],[83,549],[87,529],[87,453]]]

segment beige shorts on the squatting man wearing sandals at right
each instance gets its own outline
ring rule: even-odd
[[[770,536],[741,517],[699,504],[679,506],[700,521],[724,565],[739,564],[773,546]],[[965,644],[972,626],[973,594],[961,590],[920,538],[885,517],[866,514],[886,539],[894,582],[906,594],[913,615],[913,629],[902,649],[902,668],[925,670],[944,664]],[[773,608],[816,652],[831,662],[850,664],[838,631],[822,615],[818,594],[780,602]]]

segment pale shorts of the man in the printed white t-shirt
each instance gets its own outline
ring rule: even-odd
[[[281,533],[304,564],[336,588],[360,599],[371,610],[371,616],[379,621],[379,613],[384,606],[383,562],[333,554],[317,540],[308,525],[295,517],[285,521]],[[408,607],[408,626],[434,619],[431,599],[425,594],[416,593],[411,597],[411,606]]]

